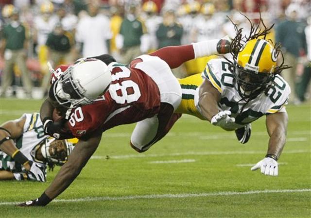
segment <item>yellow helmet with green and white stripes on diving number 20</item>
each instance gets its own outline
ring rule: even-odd
[[[240,95],[252,98],[263,91],[275,76],[276,50],[264,39],[248,41],[238,53],[233,75]]]

